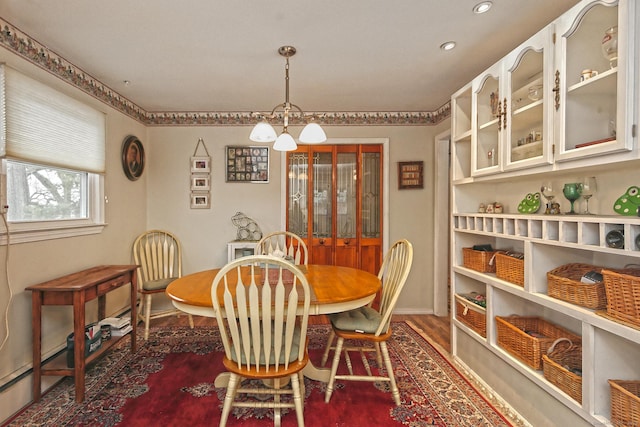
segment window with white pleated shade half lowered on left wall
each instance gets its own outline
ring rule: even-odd
[[[0,71],[0,201],[9,206],[12,242],[100,232],[104,114],[7,66]]]

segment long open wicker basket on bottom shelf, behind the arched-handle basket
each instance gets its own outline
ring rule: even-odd
[[[538,371],[542,369],[542,355],[558,338],[568,338],[575,345],[582,345],[578,335],[539,317],[496,316],[496,327],[498,344]],[[532,333],[538,336],[532,336]]]

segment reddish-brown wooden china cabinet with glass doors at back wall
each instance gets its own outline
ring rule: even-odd
[[[382,145],[306,145],[287,155],[287,230],[309,262],[377,274],[382,261]]]

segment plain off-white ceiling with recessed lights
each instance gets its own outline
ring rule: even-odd
[[[283,45],[306,112],[409,112],[437,110],[578,2],[476,15],[479,1],[2,0],[0,17],[147,112],[271,111]]]

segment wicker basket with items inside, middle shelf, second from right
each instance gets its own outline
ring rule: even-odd
[[[592,310],[607,306],[604,283],[582,283],[580,279],[589,271],[600,273],[602,267],[588,264],[565,264],[547,273],[547,294]]]

